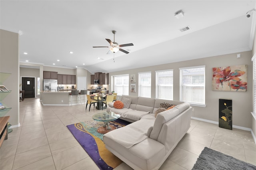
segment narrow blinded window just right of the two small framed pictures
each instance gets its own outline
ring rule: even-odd
[[[151,97],[151,72],[139,73],[139,97]]]

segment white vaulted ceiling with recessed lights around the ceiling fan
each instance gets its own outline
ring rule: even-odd
[[[0,28],[22,31],[20,62],[109,73],[251,50],[256,17],[255,12],[250,18],[246,13],[255,2],[1,0]],[[179,10],[184,17],[177,19]],[[191,30],[179,31],[186,26]],[[112,30],[119,44],[134,44],[122,47],[129,54],[106,54],[108,48],[92,47],[108,46],[105,38],[114,41]]]

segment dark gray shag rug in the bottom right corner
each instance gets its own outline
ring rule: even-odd
[[[205,147],[192,170],[256,170],[256,166]]]

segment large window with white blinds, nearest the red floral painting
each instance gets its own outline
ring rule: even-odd
[[[180,101],[205,105],[205,66],[180,68]]]

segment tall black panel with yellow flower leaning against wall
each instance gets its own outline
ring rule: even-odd
[[[232,99],[219,99],[219,127],[232,130]]]

